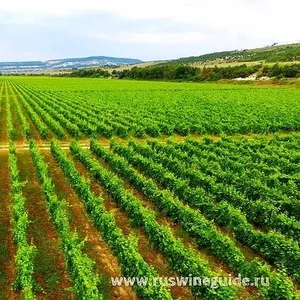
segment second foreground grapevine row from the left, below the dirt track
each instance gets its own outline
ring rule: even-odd
[[[39,152],[36,142],[30,141],[30,153],[47,200],[47,209],[61,239],[61,248],[75,282],[74,289],[79,299],[103,299],[99,293],[98,275],[94,274],[95,262],[82,252],[83,243],[77,233],[71,232],[66,202],[57,198],[49,177],[48,165]]]

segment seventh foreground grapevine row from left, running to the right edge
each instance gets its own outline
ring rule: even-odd
[[[222,184],[216,182],[214,177],[188,167],[183,159],[170,158],[170,151],[168,151],[168,154],[164,152],[157,153],[149,147],[135,142],[130,142],[129,145],[137,153],[151,159],[154,163],[161,164],[166,170],[172,172],[176,178],[186,180],[186,184],[191,188],[203,189],[207,194],[211,194],[214,200],[218,202],[225,200],[234,207],[239,208],[249,222],[260,227],[277,230],[296,241],[300,241],[300,223],[280,213],[274,205],[262,200],[251,201],[247,199],[234,186],[225,185],[225,178],[223,178],[223,181],[219,180]],[[208,161],[206,165],[209,165]],[[228,174],[224,174],[225,176],[228,177]]]

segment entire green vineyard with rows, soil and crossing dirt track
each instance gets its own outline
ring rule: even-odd
[[[0,299],[297,299],[299,116],[288,86],[2,76]]]

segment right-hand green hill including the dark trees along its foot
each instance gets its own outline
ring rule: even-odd
[[[166,81],[266,80],[300,78],[300,43],[208,53],[131,66],[120,79]]]

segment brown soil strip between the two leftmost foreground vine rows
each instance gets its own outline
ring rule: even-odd
[[[67,291],[72,283],[68,278],[64,257],[59,249],[59,237],[46,208],[46,199],[36,176],[29,152],[17,152],[20,177],[26,184],[23,194],[27,200],[30,220],[28,237],[37,247],[34,278],[42,288],[40,299],[73,299]]]

